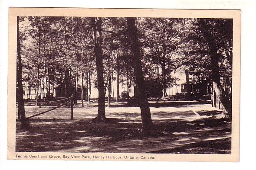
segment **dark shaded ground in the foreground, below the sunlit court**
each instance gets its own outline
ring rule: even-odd
[[[159,113],[161,116],[171,117]],[[146,136],[141,133],[138,115],[127,113],[101,123],[91,120],[31,119],[33,128],[27,131],[20,130],[20,122],[16,122],[16,151],[173,153],[174,148],[198,144],[199,147],[202,145],[203,153],[218,154],[223,150],[218,149],[219,145],[213,152],[200,142],[225,140],[231,135],[231,123],[220,119],[153,119],[154,125]],[[224,150],[223,153],[229,153],[229,146]],[[191,150],[191,153],[196,153],[196,150]]]

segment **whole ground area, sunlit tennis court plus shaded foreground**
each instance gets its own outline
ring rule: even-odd
[[[26,106],[26,112],[34,107]],[[69,108],[57,113],[62,112]],[[153,128],[145,136],[138,107],[107,107],[108,120],[101,123],[92,122],[97,107],[77,107],[73,120],[68,114],[63,119],[41,115],[26,131],[16,121],[16,151],[231,154],[231,122],[212,119],[220,113],[200,103],[151,107]]]

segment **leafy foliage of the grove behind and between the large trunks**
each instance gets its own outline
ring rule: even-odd
[[[231,75],[233,20],[206,20],[220,55],[220,76]],[[136,26],[145,79],[171,87],[177,80],[174,73],[184,69],[198,79],[210,79],[209,47],[197,19],[137,18]],[[86,17],[20,17],[23,80],[33,88],[41,81],[50,91],[58,84],[77,86],[76,78],[90,73],[97,87],[91,29]],[[121,80],[134,80],[124,18],[102,18],[102,56],[106,90],[116,79],[117,67]]]

